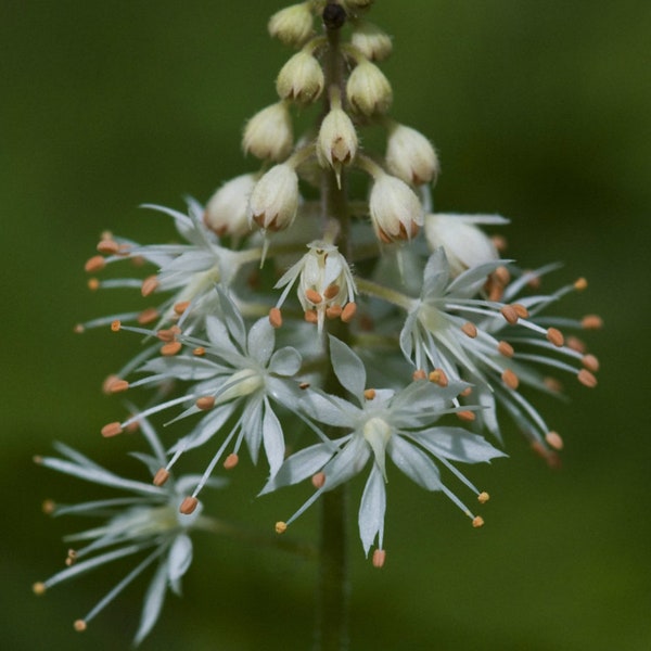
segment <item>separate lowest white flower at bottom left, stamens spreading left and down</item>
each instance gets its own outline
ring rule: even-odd
[[[139,424],[150,443],[152,455],[133,456],[142,460],[153,473],[164,461],[165,452],[151,425],[144,420]],[[103,522],[66,536],[66,542],[82,546],[69,549],[67,567],[44,582],[36,583],[34,591],[41,595],[60,583],[119,559],[144,557],[86,616],[75,622],[76,630],[85,630],[88,623],[129,584],[155,565],[156,570],[144,596],[140,626],[135,638],[135,643],[138,644],[156,623],[167,590],[180,595],[181,578],[192,562],[190,534],[195,529],[209,529],[214,524],[213,520],[201,513],[201,505],[191,515],[179,512],[188,485],[195,482],[196,477],[187,475],[175,480],[169,476],[165,485],[152,485],[122,477],[63,444],[55,444],[55,448],[62,455],[61,458],[38,457],[36,461],[71,476],[122,490],[125,496],[72,506],[46,502],[47,512],[53,515],[97,516]],[[213,486],[222,484],[224,481],[212,482]]]

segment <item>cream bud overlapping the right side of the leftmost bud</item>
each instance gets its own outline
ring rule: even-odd
[[[253,188],[248,215],[265,230],[291,226],[298,208],[298,177],[286,163],[275,165]]]

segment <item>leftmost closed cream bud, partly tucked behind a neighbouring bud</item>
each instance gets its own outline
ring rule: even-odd
[[[248,196],[257,175],[243,174],[227,181],[208,200],[204,224],[218,235],[241,238],[251,231]]]

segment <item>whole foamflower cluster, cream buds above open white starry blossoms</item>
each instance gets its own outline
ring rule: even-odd
[[[387,460],[480,527],[483,518],[441,470],[484,505],[488,494],[457,464],[505,457],[496,445],[513,424],[554,464],[563,443],[537,395],[562,394],[558,373],[597,384],[597,358],[566,331],[598,328],[600,319],[548,314],[587,282],[545,293],[557,266],[524,271],[502,257],[501,237],[482,230],[505,218],[433,212],[438,156],[424,135],[388,116],[393,90],[379,62],[392,41],[367,20],[371,4],[306,0],[276,13],[269,33],[295,53],[278,74],[277,97],[244,127],[242,148],[259,166],[227,180],[205,206],[190,200],[187,214],[148,206],[173,218],[180,243],[140,245],[104,233],[86,265],[92,290],[136,288],[153,302],[77,327],[144,335],[104,390],[145,392],[148,406],[101,433],[111,438],[139,426],[153,455],[142,457],[151,484],[123,480],[65,446],[58,449],[66,459],[40,459],[135,497],[58,507],[105,523],[71,538],[90,542],[37,591],[148,551],[78,629],[157,563],[137,641],[146,635],[166,588],[178,591],[190,564],[190,531],[208,522],[200,492],[221,483],[221,469],[239,465],[243,446],[269,470],[261,494],[311,486],[296,513],[276,524],[278,533],[323,493],[368,472],[359,536],[367,556],[374,547],[380,567]],[[292,113],[317,104],[316,127],[295,138]],[[362,145],[368,126],[385,129],[384,151]],[[350,170],[368,179],[361,196],[348,193]],[[126,260],[151,269],[97,277]],[[163,414],[183,427],[165,445],[148,420]],[[181,456],[199,459],[201,472],[175,481]]]

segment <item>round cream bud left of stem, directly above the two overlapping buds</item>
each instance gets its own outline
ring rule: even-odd
[[[282,161],[294,142],[292,120],[284,102],[271,104],[256,113],[244,127],[242,148],[256,158]]]

